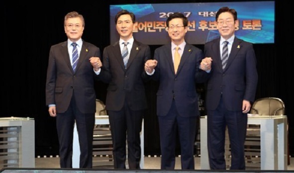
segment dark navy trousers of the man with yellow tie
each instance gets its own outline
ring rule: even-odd
[[[194,144],[198,116],[183,117],[178,113],[175,101],[166,116],[158,116],[161,148],[161,169],[175,169],[176,137],[181,145],[182,170],[194,170]],[[178,129],[178,131],[177,131]]]

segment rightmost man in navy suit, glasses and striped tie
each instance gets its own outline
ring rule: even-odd
[[[208,156],[212,170],[225,170],[225,129],[229,132],[231,170],[245,170],[247,113],[257,87],[256,58],[251,43],[235,37],[237,12],[220,8],[215,16],[220,38],[204,45],[201,68],[210,75],[206,109]]]

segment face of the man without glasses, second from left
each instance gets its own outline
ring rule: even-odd
[[[118,17],[116,22],[116,30],[120,38],[127,41],[133,36],[134,23],[129,14],[123,14]]]

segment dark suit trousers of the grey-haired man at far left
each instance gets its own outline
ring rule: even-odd
[[[74,124],[80,143],[80,168],[92,168],[93,158],[93,130],[95,113],[82,113],[76,106],[75,98],[65,113],[58,113],[56,126],[59,139],[60,167],[72,168]]]

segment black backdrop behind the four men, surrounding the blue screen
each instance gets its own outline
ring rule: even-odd
[[[231,0],[226,0],[231,1]],[[240,0],[235,0],[240,1]],[[248,0],[247,0],[248,1]],[[36,155],[58,155],[55,118],[45,106],[45,82],[50,46],[67,37],[63,20],[66,13],[83,14],[86,26],[85,41],[98,46],[101,51],[110,43],[109,4],[124,3],[179,3],[217,2],[213,0],[106,0],[59,1],[30,3],[2,2],[1,27],[1,102],[0,117],[31,117],[35,119]],[[102,4],[101,4],[102,3]],[[256,98],[279,97],[285,102],[289,119],[290,153],[294,155],[293,80],[294,15],[287,1],[276,1],[276,26],[274,44],[254,44],[258,62],[258,88]],[[164,34],[164,33],[163,33]],[[152,53],[161,45],[151,45]],[[196,45],[203,50],[203,45]],[[104,101],[106,84],[96,82],[97,98]],[[149,108],[146,111],[145,155],[160,153],[156,117],[156,91],[158,84],[146,84]],[[201,88],[201,87],[200,87]]]

